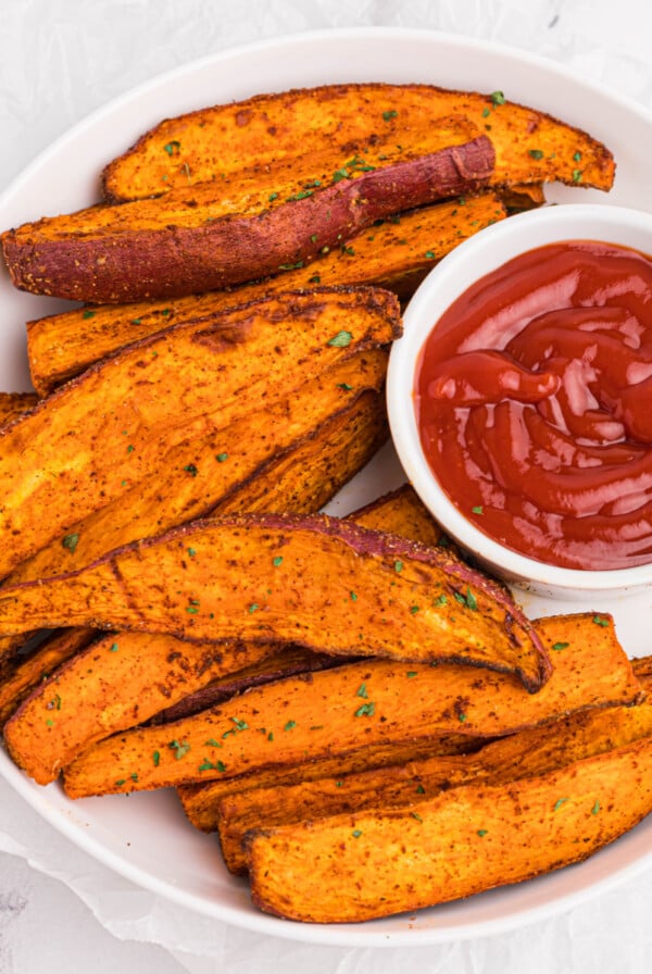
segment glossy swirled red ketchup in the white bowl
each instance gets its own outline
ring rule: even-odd
[[[423,449],[480,530],[562,567],[652,561],[652,259],[570,241],[468,288],[416,372]]]

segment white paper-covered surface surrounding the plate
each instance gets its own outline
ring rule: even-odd
[[[258,12],[258,16],[255,15]],[[556,21],[555,21],[556,17]],[[652,68],[644,37],[651,14],[647,3],[622,2],[617,21],[607,3],[149,3],[149,2],[14,2],[3,3],[0,53],[0,112],[5,151],[0,159],[0,186],[17,174],[36,151],[71,123],[134,84],[212,53],[231,43],[261,36],[312,27],[346,25],[437,27],[488,37],[523,50],[539,51],[587,77],[607,83],[624,95],[652,107]],[[553,26],[549,26],[553,24]],[[647,25],[648,30],[644,29]],[[497,84],[497,87],[500,84]],[[599,125],[600,120],[594,120]],[[595,125],[591,124],[594,128]],[[10,151],[11,149],[11,151]],[[47,190],[47,186],[43,191]],[[380,952],[315,948],[251,935],[216,922],[197,921],[179,908],[142,894],[72,848],[43,824],[17,796],[0,790],[0,826],[18,836],[4,841],[8,853],[23,856],[39,870],[65,877],[82,898],[100,884],[106,891],[97,909],[100,926],[85,912],[72,909],[68,890],[38,872],[16,871],[15,860],[0,873],[0,970],[51,971],[84,969],[96,948],[113,969],[126,972],[175,970],[168,958],[162,966],[160,948],[142,948],[110,940],[103,927],[118,937],[151,940],[161,928],[174,931],[177,970],[264,971],[274,964],[301,964],[317,971],[408,970],[415,963],[432,971],[610,970],[617,957],[619,971],[642,971],[651,947],[647,909],[652,894],[650,874],[617,890],[546,921],[502,937],[418,950]],[[4,861],[0,862],[0,869]],[[27,878],[26,878],[27,877]],[[9,879],[9,883],[7,883]],[[51,892],[54,888],[54,892]],[[25,903],[21,907],[21,903]],[[45,904],[33,935],[22,924],[32,903]],[[62,936],[62,932],[66,936]],[[39,952],[40,945],[40,952]],[[61,948],[60,946],[61,945]],[[77,953],[75,953],[77,949]],[[216,959],[200,962],[203,951]],[[540,965],[540,966],[539,966]],[[101,970],[101,967],[100,967]]]

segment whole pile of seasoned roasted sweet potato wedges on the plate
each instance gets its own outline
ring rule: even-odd
[[[388,436],[401,302],[562,180],[586,133],[341,85],[168,120],[104,199],[2,235],[0,722],[67,795],[174,787],[266,911],[353,922],[576,862],[652,810],[649,659],[528,620],[409,486],[319,514]]]

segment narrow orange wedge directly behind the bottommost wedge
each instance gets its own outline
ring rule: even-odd
[[[497,785],[535,777],[642,737],[652,737],[652,702],[580,711],[472,754],[416,758],[373,771],[233,792],[216,809],[222,852],[229,871],[242,874],[244,837],[252,828],[412,806],[419,796],[432,797],[466,783]]]

